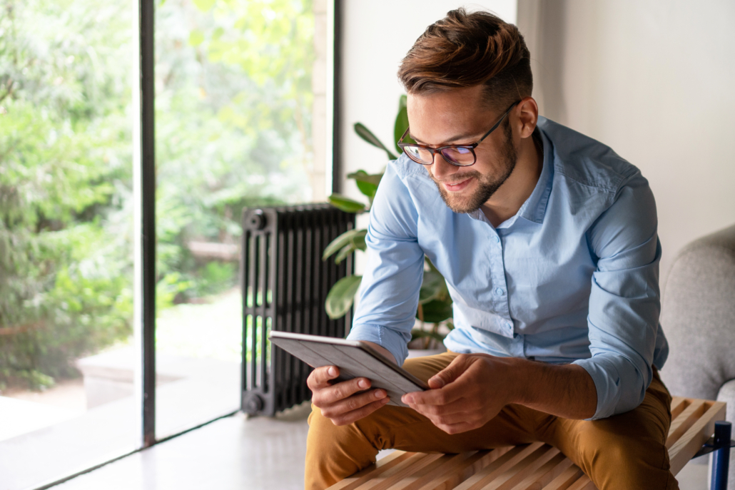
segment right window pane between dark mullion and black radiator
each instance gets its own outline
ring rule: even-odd
[[[157,436],[240,404],[240,217],[312,201],[313,46],[309,0],[157,8]]]

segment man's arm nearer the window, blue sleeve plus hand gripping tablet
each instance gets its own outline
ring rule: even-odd
[[[400,365],[406,357],[406,344],[415,323],[423,278],[423,250],[417,242],[414,203],[394,165],[397,164],[388,165],[370,209],[370,226],[365,237],[368,264],[362,275],[348,339],[368,342]],[[362,419],[388,402],[383,389],[365,391],[370,388],[367,378],[331,385],[338,375],[337,367],[320,367],[307,381],[314,392],[312,403],[334,425]]]

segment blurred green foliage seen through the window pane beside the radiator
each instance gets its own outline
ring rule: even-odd
[[[167,0],[156,22],[163,306],[237,279],[187,242],[236,243],[244,207],[311,200],[314,20],[310,1]]]

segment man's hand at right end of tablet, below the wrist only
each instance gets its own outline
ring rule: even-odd
[[[429,379],[429,391],[407,393],[401,400],[446,433],[480,428],[511,403],[507,361],[487,354],[460,354]]]

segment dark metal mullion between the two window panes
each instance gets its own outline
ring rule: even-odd
[[[156,161],[154,0],[140,0],[140,144],[143,251],[143,447],[156,442]]]

